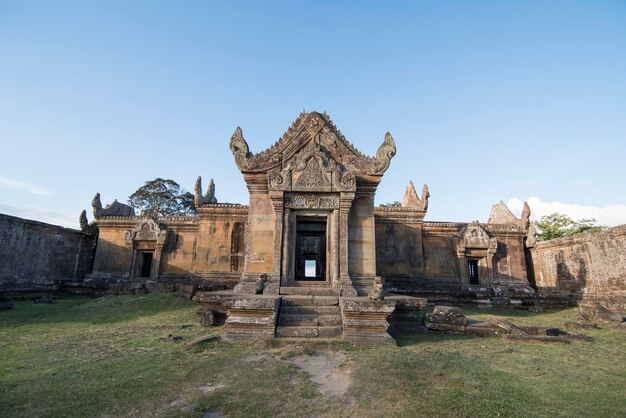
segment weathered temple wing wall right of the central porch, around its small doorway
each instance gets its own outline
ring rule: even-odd
[[[420,217],[421,216],[421,217]],[[457,240],[467,226],[422,222],[407,208],[376,209],[377,272],[394,291],[459,292],[462,278]],[[479,264],[481,286],[528,288],[524,232],[516,225],[481,224],[498,242],[493,266]]]

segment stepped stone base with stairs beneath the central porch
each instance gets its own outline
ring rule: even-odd
[[[199,305],[200,322],[224,324],[227,341],[288,337],[395,344],[388,333],[390,325],[400,330],[423,329],[425,299],[391,295],[381,301],[306,288],[286,292],[290,294],[197,292],[193,299]]]

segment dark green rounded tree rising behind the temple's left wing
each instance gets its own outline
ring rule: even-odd
[[[147,181],[128,197],[128,204],[142,215],[194,215],[193,194],[181,189],[174,180],[156,178]]]

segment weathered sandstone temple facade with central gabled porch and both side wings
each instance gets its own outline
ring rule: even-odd
[[[396,153],[387,133],[373,157],[323,113],[302,113],[270,148],[252,153],[242,130],[230,140],[249,205],[218,203],[210,182],[195,190],[197,216],[135,216],[92,202],[98,232],[90,281],[189,283],[264,294],[327,288],[363,296],[376,277],[396,293],[452,292],[490,298],[532,292],[527,274],[530,212],[503,203],[487,223],[425,222],[429,190],[407,186],[401,207],[375,207]],[[84,218],[84,215],[83,215]],[[532,241],[532,237],[530,238]]]

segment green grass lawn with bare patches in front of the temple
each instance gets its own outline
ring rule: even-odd
[[[222,327],[196,323],[195,309],[172,294],[14,302],[0,312],[0,416],[626,415],[626,333],[610,326],[564,344],[437,333],[397,336],[397,347],[229,344]],[[464,311],[558,327],[576,316]],[[159,340],[168,334],[184,339]],[[285,361],[322,351],[348,356],[343,397],[321,394]]]

